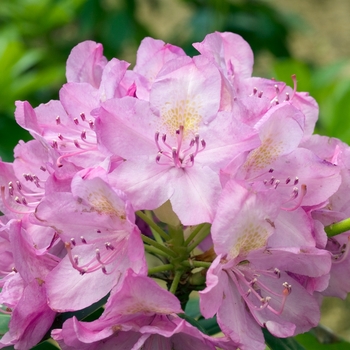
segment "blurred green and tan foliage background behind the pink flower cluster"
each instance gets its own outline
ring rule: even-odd
[[[0,0],[0,157],[12,161],[18,140],[29,139],[14,102],[57,99],[79,42],[101,42],[108,59],[134,64],[145,36],[195,54],[191,44],[213,31],[250,43],[255,75],[292,85],[296,74],[298,90],[320,105],[316,132],[350,143],[349,14],[347,0]],[[324,323],[350,339],[350,307],[329,303]]]

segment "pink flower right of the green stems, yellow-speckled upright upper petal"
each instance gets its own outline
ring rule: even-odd
[[[208,270],[207,288],[200,292],[202,314],[217,313],[224,334],[242,349],[264,349],[260,327],[289,337],[317,325],[319,305],[310,293],[326,285],[304,287],[299,276],[323,278],[331,267],[330,254],[312,244],[271,245],[283,242],[274,235],[285,231],[275,226],[279,201],[270,192],[227,183],[212,226],[219,255]]]

